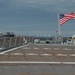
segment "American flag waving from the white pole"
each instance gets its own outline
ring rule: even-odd
[[[70,19],[75,19],[75,13],[71,12],[69,14],[59,14],[59,24],[62,25]]]

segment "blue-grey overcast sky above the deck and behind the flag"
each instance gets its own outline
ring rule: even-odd
[[[0,0],[0,32],[55,36],[57,14],[75,12],[75,0]],[[75,34],[75,20],[61,27],[61,36]]]

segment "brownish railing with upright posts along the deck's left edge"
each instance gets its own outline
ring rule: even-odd
[[[24,37],[0,37],[0,51],[24,45]]]

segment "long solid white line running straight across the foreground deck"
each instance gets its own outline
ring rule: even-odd
[[[40,61],[0,61],[0,64],[64,64],[75,65],[75,62],[40,62]]]

